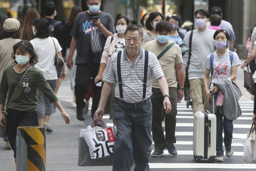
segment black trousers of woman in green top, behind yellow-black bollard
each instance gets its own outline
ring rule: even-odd
[[[21,112],[8,109],[7,113],[7,136],[14,151],[14,158],[16,159],[17,127],[38,126],[38,118],[36,111]]]

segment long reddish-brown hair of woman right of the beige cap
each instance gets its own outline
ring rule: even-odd
[[[33,25],[33,20],[36,18],[40,18],[40,14],[35,8],[31,7],[26,10],[25,17],[20,28],[20,39],[28,41],[35,39],[35,35],[33,35],[31,26]]]

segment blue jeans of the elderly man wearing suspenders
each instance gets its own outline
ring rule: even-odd
[[[150,98],[139,103],[127,103],[115,98],[114,116],[116,137],[113,171],[130,171],[132,158],[134,171],[149,171],[152,140],[152,104]],[[130,139],[130,133],[132,137]]]

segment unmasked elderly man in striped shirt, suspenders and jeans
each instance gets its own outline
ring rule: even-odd
[[[159,83],[166,113],[171,111],[168,84],[155,54],[141,48],[141,26],[128,26],[124,39],[126,48],[114,53],[107,65],[101,100],[94,118],[102,119],[107,98],[113,83],[116,83],[114,116],[117,132],[113,171],[130,171],[132,161],[135,163],[135,170],[149,171],[152,78]]]

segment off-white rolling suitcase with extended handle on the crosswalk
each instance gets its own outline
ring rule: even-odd
[[[216,115],[209,111],[198,111],[194,114],[193,127],[193,152],[194,160],[200,162],[201,159],[215,161],[216,156]]]

